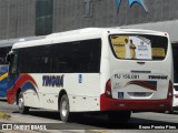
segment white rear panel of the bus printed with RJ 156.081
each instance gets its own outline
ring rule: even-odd
[[[155,35],[164,37],[165,34]],[[113,99],[165,100],[168,94],[169,81],[174,81],[172,71],[170,40],[168,40],[166,59],[160,61],[118,60],[110,50]]]

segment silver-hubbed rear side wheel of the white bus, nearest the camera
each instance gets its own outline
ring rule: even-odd
[[[60,100],[60,117],[63,122],[68,122],[70,116],[69,99],[66,94]]]

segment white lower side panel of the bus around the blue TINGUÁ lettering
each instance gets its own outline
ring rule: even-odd
[[[37,82],[37,93],[30,89],[26,91],[27,106],[58,110],[58,98],[61,90],[66,90],[70,111],[99,111],[100,74],[30,74]],[[63,86],[43,86],[42,76],[63,75]]]

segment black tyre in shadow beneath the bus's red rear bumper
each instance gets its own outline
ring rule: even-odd
[[[108,119],[112,123],[123,123],[130,120],[131,111],[109,112]]]

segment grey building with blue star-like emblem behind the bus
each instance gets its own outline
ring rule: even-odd
[[[178,0],[0,0],[0,40],[88,27],[139,28],[168,32],[177,57],[177,7]]]

